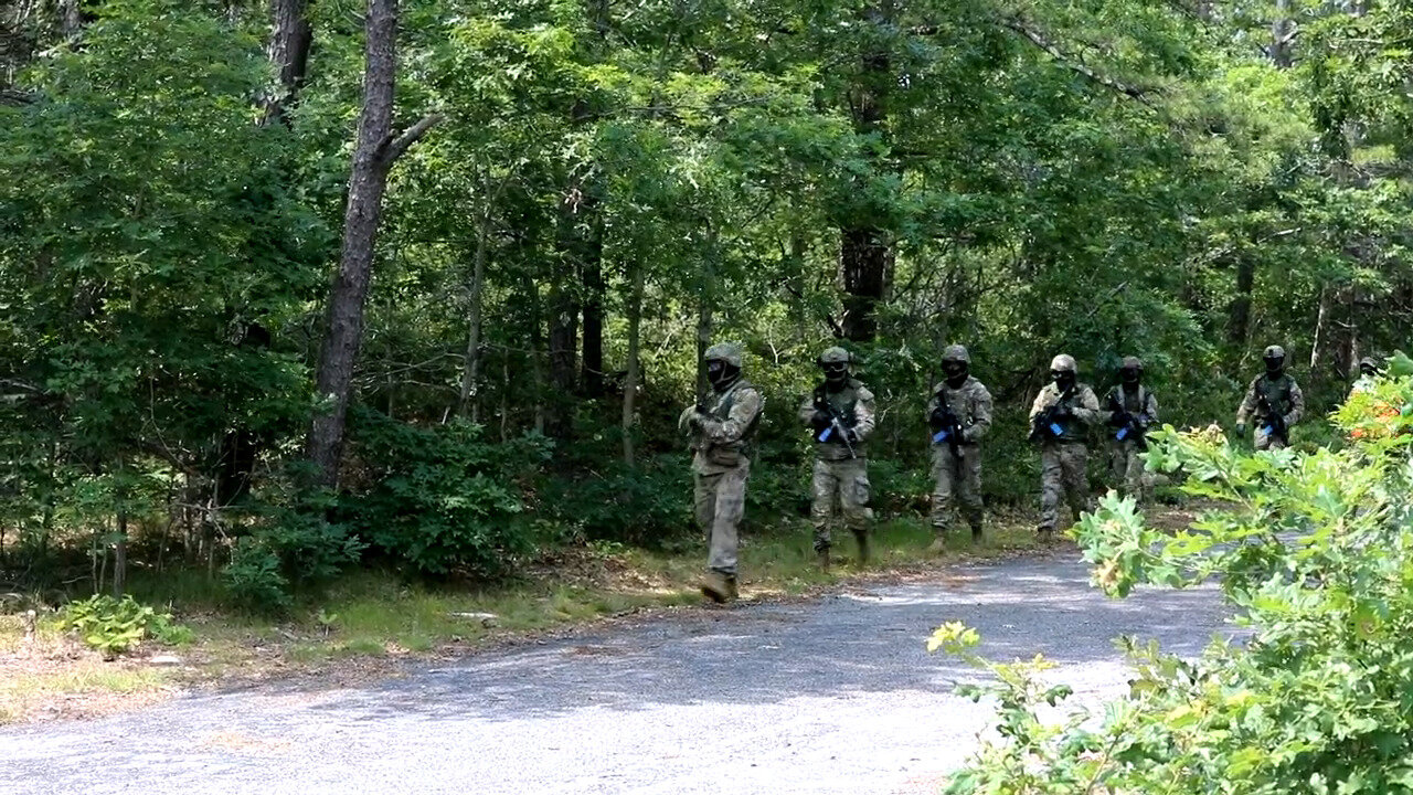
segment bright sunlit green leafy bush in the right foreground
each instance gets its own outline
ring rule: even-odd
[[[993,665],[978,639],[944,625],[930,642],[993,671],[1000,738],[948,792],[1383,794],[1413,789],[1413,362],[1335,414],[1341,451],[1248,455],[1221,431],[1153,436],[1149,464],[1183,468],[1190,495],[1225,508],[1187,530],[1145,526],[1109,497],[1077,530],[1095,583],[1218,579],[1245,642],[1198,659],[1128,642],[1139,672],[1102,716],[1037,716],[1063,686],[1044,661]]]

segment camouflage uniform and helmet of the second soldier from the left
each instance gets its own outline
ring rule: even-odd
[[[838,351],[848,362],[848,352],[842,348],[825,351],[821,361],[831,352]],[[859,539],[861,549],[866,549],[866,533],[873,523],[873,511],[869,508],[869,467],[866,443],[873,433],[873,393],[858,379],[849,378],[838,390],[829,390],[825,385],[815,388],[814,393],[800,403],[800,422],[811,424],[815,413],[815,402],[827,402],[842,419],[844,424],[853,431],[855,439],[845,444],[834,426],[824,430],[814,430],[814,477],[811,481],[812,502],[810,505],[810,519],[814,523],[815,552],[828,552],[832,539],[829,538],[829,523],[835,515],[835,505],[844,515],[844,523]],[[824,441],[820,437],[824,436]],[[853,453],[849,453],[849,447]]]

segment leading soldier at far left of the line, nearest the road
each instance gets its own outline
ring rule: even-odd
[[[740,348],[712,345],[702,361],[712,392],[688,406],[678,427],[691,434],[697,523],[711,543],[702,593],[716,603],[736,598],[736,529],[746,509],[750,458],[746,448],[764,399],[740,376]]]

